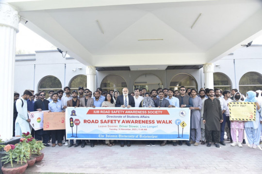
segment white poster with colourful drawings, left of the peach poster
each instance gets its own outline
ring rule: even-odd
[[[28,113],[28,117],[29,119],[31,119],[30,125],[32,126],[34,131],[43,129],[44,112],[48,112],[48,111],[42,111],[42,112],[35,111],[35,112]]]

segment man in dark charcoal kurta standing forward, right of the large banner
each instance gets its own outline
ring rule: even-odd
[[[209,98],[205,100],[203,123],[205,124],[205,137],[207,140],[207,146],[211,146],[212,132],[214,135],[214,144],[216,147],[220,147],[218,142],[220,141],[220,123],[223,122],[223,115],[221,105],[218,99],[214,98],[214,90],[209,89]]]

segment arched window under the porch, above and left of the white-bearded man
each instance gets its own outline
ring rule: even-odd
[[[120,75],[111,74],[102,80],[100,87],[103,91],[118,90],[119,93],[122,94],[122,89],[127,87],[127,83]]]

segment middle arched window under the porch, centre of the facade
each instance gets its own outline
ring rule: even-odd
[[[150,92],[152,89],[163,88],[162,81],[155,74],[142,74],[134,82],[135,88],[146,88],[147,92]]]

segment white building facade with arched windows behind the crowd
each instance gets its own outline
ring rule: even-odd
[[[248,90],[262,89],[262,45],[242,47],[213,64],[214,88],[237,88],[243,94]],[[205,87],[201,65],[171,66],[165,70],[117,70],[128,67],[96,69],[96,87],[107,91],[113,89],[121,93],[123,87],[128,87],[130,91],[136,87],[146,87],[148,91],[158,87],[177,89],[185,86],[197,90]],[[20,94],[24,89],[49,91],[66,86],[77,89],[87,87],[87,83],[86,66],[74,58],[63,58],[56,50],[16,55],[14,87],[15,92]]]

